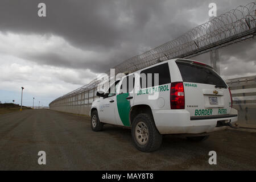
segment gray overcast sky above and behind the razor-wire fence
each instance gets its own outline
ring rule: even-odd
[[[46,3],[46,18],[38,17],[40,2]],[[25,105],[32,105],[30,97],[48,105],[98,73],[207,22],[210,2],[220,15],[253,0],[1,0],[0,90],[16,94],[1,94],[0,101],[19,101],[24,86]],[[221,49],[221,74],[255,74],[255,45],[253,40]]]

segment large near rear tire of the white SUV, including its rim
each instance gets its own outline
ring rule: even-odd
[[[162,135],[156,129],[154,119],[149,114],[138,114],[134,118],[131,137],[135,147],[143,152],[158,150],[162,144]]]

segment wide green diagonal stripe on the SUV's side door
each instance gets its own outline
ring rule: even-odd
[[[126,99],[129,96],[129,93],[122,93],[117,95],[117,109],[119,117],[124,126],[130,126],[129,114],[130,114],[130,101]]]

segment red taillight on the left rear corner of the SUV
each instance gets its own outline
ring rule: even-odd
[[[172,82],[170,91],[171,109],[185,109],[183,82]]]

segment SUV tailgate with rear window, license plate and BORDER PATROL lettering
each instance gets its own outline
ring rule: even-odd
[[[183,79],[185,109],[191,116],[229,114],[231,99],[225,81],[208,65],[176,60]]]

